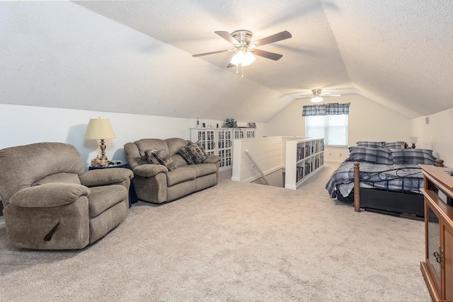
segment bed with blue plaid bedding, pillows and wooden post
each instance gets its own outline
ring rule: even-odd
[[[397,216],[423,217],[418,164],[442,165],[428,149],[407,149],[404,141],[358,141],[326,184],[331,198]],[[357,193],[356,193],[357,192]]]

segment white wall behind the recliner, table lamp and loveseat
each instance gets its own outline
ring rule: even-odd
[[[105,141],[110,160],[125,160],[122,148],[127,142],[145,138],[190,139],[190,128],[196,127],[196,119],[0,104],[0,149],[59,141],[74,145],[88,166],[100,153],[99,142],[85,140],[84,136],[88,121],[98,117],[108,118],[116,134],[115,139]],[[200,120],[200,124],[202,122],[213,127],[223,124],[222,120]],[[242,126],[246,122],[238,124]],[[261,127],[263,124],[257,124],[258,135]]]

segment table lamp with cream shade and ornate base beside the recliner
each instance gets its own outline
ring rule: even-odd
[[[106,166],[109,161],[107,156],[105,156],[105,139],[115,139],[115,132],[113,132],[112,125],[108,119],[91,119],[88,122],[88,127],[86,128],[85,139],[101,139],[101,157],[96,156],[96,158],[91,161],[92,166]]]

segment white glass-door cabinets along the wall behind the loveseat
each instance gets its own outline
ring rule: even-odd
[[[201,141],[209,155],[220,156],[219,170],[231,170],[233,164],[232,139],[254,139],[251,128],[191,128],[190,140]]]

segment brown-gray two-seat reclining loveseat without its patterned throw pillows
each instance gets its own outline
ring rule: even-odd
[[[134,172],[137,197],[145,202],[162,203],[217,185],[220,157],[210,155],[199,164],[188,164],[178,151],[187,146],[185,139],[140,139],[125,144],[125,155]],[[146,150],[165,150],[176,164],[168,170],[165,165],[150,163],[144,158]]]

